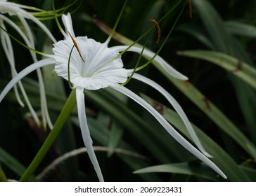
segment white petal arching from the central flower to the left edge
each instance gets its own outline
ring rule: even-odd
[[[46,66],[46,65],[49,65],[49,64],[54,64],[55,62],[56,62],[55,59],[52,59],[52,58],[43,59],[43,60],[41,60],[39,62],[35,62],[35,63],[31,64],[30,66],[27,66],[25,69],[23,69],[23,71],[20,71],[20,73],[18,73],[8,83],[8,85],[6,85],[4,90],[1,92],[1,94],[0,94],[0,102],[4,99],[4,97],[11,90],[11,88],[13,88],[13,86],[15,84],[17,84],[22,78],[27,76],[27,74],[31,73],[32,71],[34,71],[36,69],[39,69],[42,66]]]

